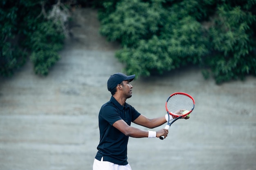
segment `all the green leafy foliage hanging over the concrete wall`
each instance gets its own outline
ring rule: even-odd
[[[199,65],[216,83],[256,76],[255,0],[77,2],[99,9],[100,33],[121,43],[116,57],[128,74]],[[36,74],[48,74],[65,38],[65,13],[56,7],[51,0],[0,2],[0,75],[10,76],[29,54]]]

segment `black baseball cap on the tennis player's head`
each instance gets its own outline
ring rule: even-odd
[[[126,76],[123,73],[115,73],[108,78],[108,91],[112,91],[118,84],[124,80],[129,80],[130,82],[135,78],[135,74]]]

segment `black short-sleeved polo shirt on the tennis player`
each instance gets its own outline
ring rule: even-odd
[[[117,120],[123,119],[129,126],[139,117],[140,113],[131,105],[124,107],[112,96],[99,111],[100,142],[97,147],[96,159],[109,161],[118,165],[127,165],[128,136],[112,126]]]

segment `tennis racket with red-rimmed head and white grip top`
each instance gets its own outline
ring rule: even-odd
[[[171,124],[180,118],[184,118],[189,115],[195,107],[195,100],[192,96],[186,93],[177,92],[169,96],[166,100],[165,108],[168,114],[168,123],[164,129],[169,129]],[[175,117],[171,122],[170,116]],[[160,136],[159,139],[163,140],[164,136]]]

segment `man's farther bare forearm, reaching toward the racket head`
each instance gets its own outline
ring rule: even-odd
[[[161,126],[162,124],[166,123],[165,116],[159,117],[159,118],[153,118],[149,119],[144,115],[140,115],[137,119],[133,121],[136,124],[139,124],[141,126],[145,126],[147,128],[155,128],[158,126]]]

